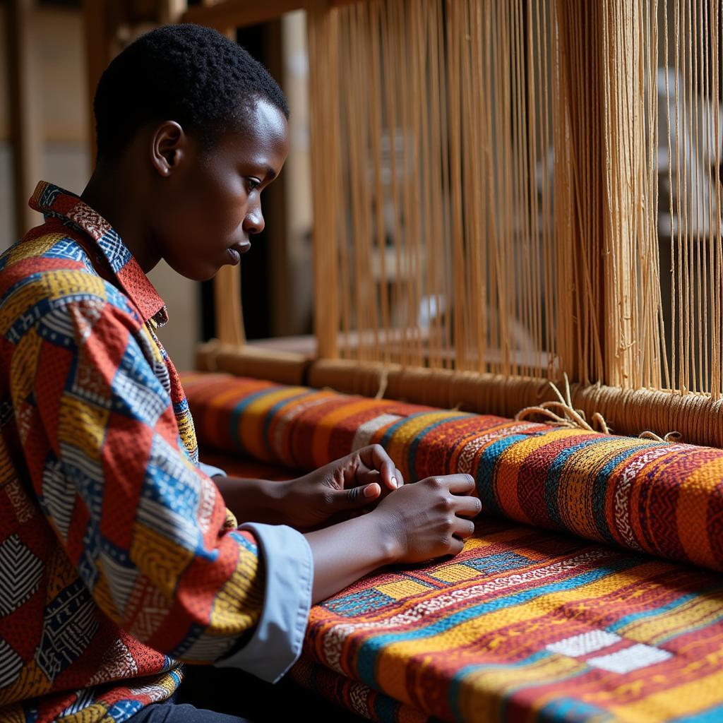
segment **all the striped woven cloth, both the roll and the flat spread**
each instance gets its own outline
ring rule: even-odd
[[[184,386],[204,447],[311,469],[379,442],[407,482],[475,476],[461,555],[312,609],[302,685],[380,721],[723,720],[721,450],[228,375]]]

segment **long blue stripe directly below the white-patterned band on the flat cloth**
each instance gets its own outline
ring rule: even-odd
[[[536,589],[522,590],[515,594],[498,597],[487,602],[481,602],[472,607],[459,610],[452,615],[448,615],[448,617],[436,618],[432,620],[429,625],[425,625],[424,628],[416,628],[415,630],[408,630],[406,632],[381,633],[374,638],[369,638],[364,641],[359,648],[356,656],[356,669],[359,678],[364,681],[364,683],[367,683],[367,685],[375,685],[374,672],[377,655],[380,654],[387,645],[401,641],[431,638],[432,636],[440,635],[440,633],[445,633],[447,630],[450,630],[450,628],[454,628],[455,625],[466,623],[467,620],[472,620],[474,617],[525,604],[536,597],[542,597],[550,593],[573,590],[580,586],[594,583],[622,570],[634,568],[639,562],[637,559],[631,560],[630,558],[625,558],[615,563],[610,563],[609,565],[602,565],[593,570],[586,570],[584,573],[566,580],[550,583],[549,585]]]

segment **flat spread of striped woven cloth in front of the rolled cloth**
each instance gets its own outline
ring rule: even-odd
[[[372,720],[723,720],[723,578],[482,518],[315,606],[307,688]]]

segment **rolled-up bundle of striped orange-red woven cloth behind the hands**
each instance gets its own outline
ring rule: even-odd
[[[308,470],[379,442],[407,481],[472,474],[483,514],[723,569],[723,450],[231,375],[184,388],[202,448]]]

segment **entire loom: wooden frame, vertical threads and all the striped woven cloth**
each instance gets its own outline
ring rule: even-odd
[[[722,450],[392,401],[511,415],[567,375],[565,415],[720,444],[719,181],[688,162],[719,168],[692,95],[719,98],[717,4],[305,7],[319,353],[244,345],[223,270],[199,361],[237,376],[184,379],[199,444],[245,477],[379,442],[408,480],[474,476],[484,516],[453,560],[314,606],[290,675],[373,720],[719,719]]]

